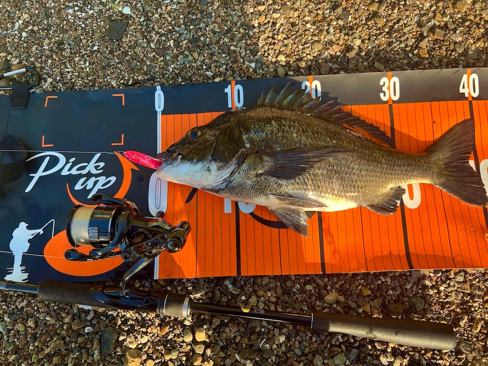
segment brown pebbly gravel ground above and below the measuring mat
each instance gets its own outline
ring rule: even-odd
[[[118,29],[109,27],[113,22]],[[0,67],[36,66],[38,92],[476,67],[488,66],[487,33],[485,0],[7,0],[0,2]],[[450,352],[259,321],[161,320],[2,293],[0,363],[488,365],[487,282],[485,270],[435,270],[142,284],[199,301],[448,322],[460,340]]]

